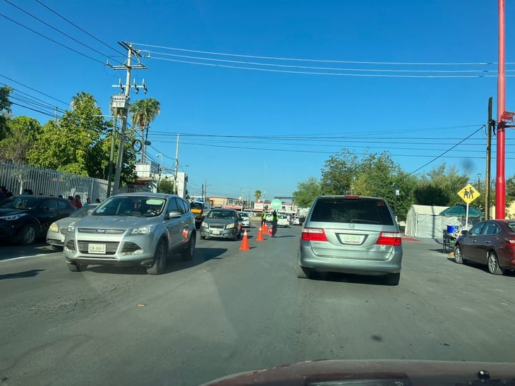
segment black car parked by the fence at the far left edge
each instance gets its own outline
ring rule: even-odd
[[[16,195],[0,203],[0,239],[30,245],[44,237],[52,222],[77,210],[64,198]]]

